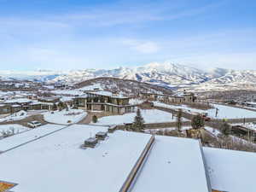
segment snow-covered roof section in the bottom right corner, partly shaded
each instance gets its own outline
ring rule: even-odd
[[[253,192],[255,188],[256,154],[203,148],[212,189],[229,192]]]

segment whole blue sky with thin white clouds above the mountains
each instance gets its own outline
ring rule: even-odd
[[[0,0],[0,70],[256,70],[253,0]]]

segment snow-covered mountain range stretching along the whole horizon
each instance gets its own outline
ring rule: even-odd
[[[214,68],[205,71],[171,62],[153,62],[142,67],[119,67],[111,70],[84,69],[68,72],[42,70],[36,72],[0,71],[1,76],[3,79],[28,79],[65,84],[76,84],[99,77],[131,79],[167,87],[256,84],[256,71],[253,70],[238,71]]]

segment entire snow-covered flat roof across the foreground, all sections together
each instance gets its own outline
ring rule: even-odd
[[[120,192],[148,151],[130,192],[255,191],[255,153],[202,148],[195,139],[130,131],[108,133],[96,148],[81,148],[98,131],[108,129],[44,125],[0,140],[0,185],[15,183],[8,191],[20,192]]]

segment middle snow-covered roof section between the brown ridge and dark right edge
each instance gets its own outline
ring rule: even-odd
[[[156,136],[132,192],[210,191],[198,140]]]

